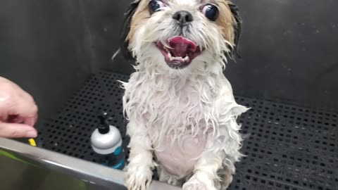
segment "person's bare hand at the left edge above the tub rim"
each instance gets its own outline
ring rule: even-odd
[[[17,84],[0,77],[0,137],[35,138],[37,105]]]

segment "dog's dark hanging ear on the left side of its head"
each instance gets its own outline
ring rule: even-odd
[[[136,12],[137,7],[139,6],[139,2],[141,0],[134,0],[128,10],[127,13],[125,13],[125,20],[123,20],[123,27],[122,32],[120,36],[120,51],[122,55],[127,59],[134,59],[134,56],[132,56],[132,53],[129,50],[129,39],[127,39],[129,32],[130,32],[130,25],[132,24],[132,17],[134,16],[134,13]]]

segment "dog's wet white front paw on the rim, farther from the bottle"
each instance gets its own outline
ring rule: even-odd
[[[212,180],[202,175],[193,175],[182,186],[183,190],[217,190]]]

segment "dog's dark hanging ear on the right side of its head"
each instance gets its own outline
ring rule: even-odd
[[[230,57],[233,58],[234,54],[239,57],[238,53],[238,44],[239,44],[239,39],[241,37],[241,32],[242,32],[242,19],[239,16],[239,10],[238,7],[231,2],[228,2],[230,11],[232,13],[232,16],[234,18],[234,47],[231,48],[230,52]]]

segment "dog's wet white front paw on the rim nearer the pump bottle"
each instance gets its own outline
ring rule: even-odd
[[[125,176],[125,186],[128,190],[147,190],[151,183],[153,172],[144,166],[128,166]]]

